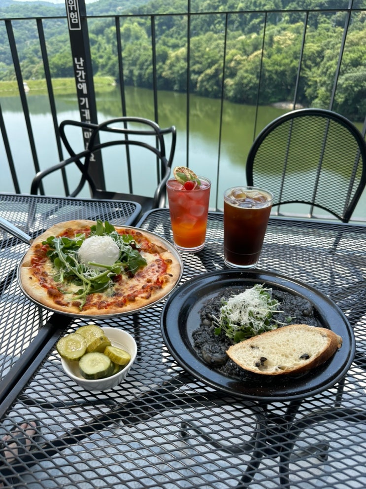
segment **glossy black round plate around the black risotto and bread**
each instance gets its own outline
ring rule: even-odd
[[[228,288],[237,288],[239,293],[243,286],[253,287],[258,283],[309,301],[320,325],[342,338],[341,348],[323,365],[298,376],[248,373],[243,381],[208,366],[195,349],[192,338],[200,325],[200,310],[208,300]],[[168,350],[183,369],[215,389],[252,401],[295,400],[322,392],[346,374],[355,354],[351,325],[333,301],[299,281],[261,270],[213,271],[185,282],[167,299],[161,328]]]

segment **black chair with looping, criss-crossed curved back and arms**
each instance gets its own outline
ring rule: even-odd
[[[85,139],[88,141],[86,149],[77,153],[72,149],[69,136],[67,136],[67,132],[69,133],[70,129],[73,130],[74,127],[81,128],[84,135],[87,135]],[[32,194],[37,194],[40,191],[42,180],[47,175],[61,170],[67,196],[77,196],[84,185],[88,183],[92,198],[133,200],[141,204],[142,212],[165,206],[166,181],[170,175],[176,144],[174,126],[161,129],[156,122],[141,117],[118,117],[100,124],[64,120],[60,124],[60,135],[70,157],[38,172],[33,178]],[[170,137],[168,156],[166,156],[164,139],[167,135]],[[108,150],[109,154],[106,155],[107,148],[116,146],[123,148],[117,151],[113,150],[113,154]],[[100,171],[100,166],[96,163],[98,154],[102,158],[104,166],[110,164],[115,168],[113,185],[115,188],[117,187],[116,191],[105,189],[103,170]],[[149,161],[149,158],[152,161]],[[132,159],[137,161],[133,164]],[[66,167],[71,163],[74,163],[80,170],[81,177],[75,189],[69,191]],[[122,163],[125,164],[124,169],[122,169]],[[155,169],[151,174],[148,174],[148,169],[151,169],[150,163],[155,165]],[[146,182],[149,182],[150,195],[140,195],[133,192],[133,188],[136,187],[136,185],[133,186],[133,172],[135,184],[138,181],[140,183],[145,182],[146,187]],[[120,188],[118,189],[118,187]],[[126,191],[119,191],[122,188]]]

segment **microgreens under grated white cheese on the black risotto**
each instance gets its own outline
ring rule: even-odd
[[[224,333],[234,343],[277,328],[272,316],[279,302],[272,299],[271,290],[256,284],[251,289],[222,300],[219,318],[214,318],[215,334]]]

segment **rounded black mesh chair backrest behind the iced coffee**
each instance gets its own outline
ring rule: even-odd
[[[307,204],[309,217],[316,207],[348,222],[366,185],[365,140],[332,111],[292,111],[257,136],[246,177],[248,185],[274,194],[274,206]]]

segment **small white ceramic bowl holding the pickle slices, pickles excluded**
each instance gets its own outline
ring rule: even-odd
[[[105,336],[110,339],[113,346],[118,346],[131,355],[130,362],[117,374],[106,378],[99,378],[97,380],[88,380],[81,376],[79,362],[69,362],[64,358],[61,359],[66,374],[78,385],[91,392],[101,392],[120,384],[129,373],[137,354],[136,342],[127,331],[120,330],[119,328],[102,328],[102,330]]]

